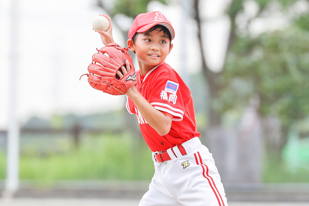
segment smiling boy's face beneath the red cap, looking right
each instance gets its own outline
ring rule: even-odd
[[[138,34],[135,45],[132,43],[131,50],[135,51],[139,64],[142,64],[140,67],[152,69],[164,62],[172,47],[168,36],[163,31],[154,30],[149,34]]]

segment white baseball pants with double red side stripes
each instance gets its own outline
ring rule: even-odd
[[[182,144],[187,155],[179,149],[167,150],[171,160],[155,165],[149,190],[139,206],[227,206],[223,184],[212,154],[194,137]]]

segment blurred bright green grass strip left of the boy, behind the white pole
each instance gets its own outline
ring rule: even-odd
[[[150,180],[154,173],[151,152],[145,143],[138,146],[132,139],[126,134],[87,136],[77,149],[63,140],[65,149],[48,149],[43,154],[41,146],[32,145],[29,152],[22,149],[19,176],[37,184],[63,179]],[[5,168],[4,152],[0,153],[0,168]],[[0,170],[0,178],[5,178],[5,170]]]

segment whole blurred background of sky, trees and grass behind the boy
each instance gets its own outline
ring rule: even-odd
[[[138,200],[147,191],[151,152],[126,98],[79,78],[104,46],[96,16],[109,15],[126,46],[148,11],[175,29],[166,62],[191,89],[228,200],[309,204],[307,0],[0,1],[3,197]]]

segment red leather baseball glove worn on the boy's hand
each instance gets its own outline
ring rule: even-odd
[[[120,68],[124,66],[127,69],[126,60],[129,61],[130,70],[124,73]],[[92,56],[88,72],[90,73],[87,74],[88,82],[91,87],[112,95],[125,94],[129,88],[137,84],[128,48],[115,43],[102,47]]]

